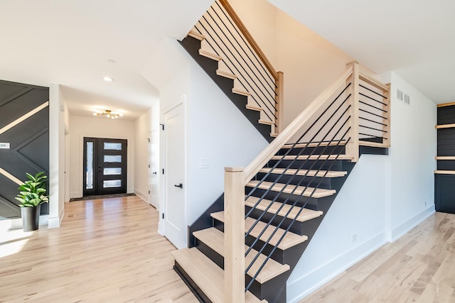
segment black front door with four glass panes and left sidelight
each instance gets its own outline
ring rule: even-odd
[[[84,138],[83,194],[127,193],[127,140]]]

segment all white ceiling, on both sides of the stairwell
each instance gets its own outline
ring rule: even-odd
[[[0,79],[62,84],[71,114],[97,107],[137,119],[158,101],[140,75],[156,45],[183,38],[211,2],[0,0]],[[375,72],[394,70],[433,101],[455,101],[455,1],[269,2]]]

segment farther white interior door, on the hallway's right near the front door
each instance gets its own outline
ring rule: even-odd
[[[149,133],[149,204],[159,209],[159,131]]]

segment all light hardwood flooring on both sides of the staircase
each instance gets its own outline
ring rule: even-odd
[[[0,302],[197,302],[157,211],[137,197],[66,204],[60,228],[0,234]],[[455,302],[455,215],[437,213],[306,302]]]

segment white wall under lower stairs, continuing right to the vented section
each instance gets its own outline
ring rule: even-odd
[[[410,95],[410,105],[396,99],[397,88]],[[391,104],[390,155],[360,157],[289,277],[288,302],[298,302],[434,213],[436,104],[393,72]]]

